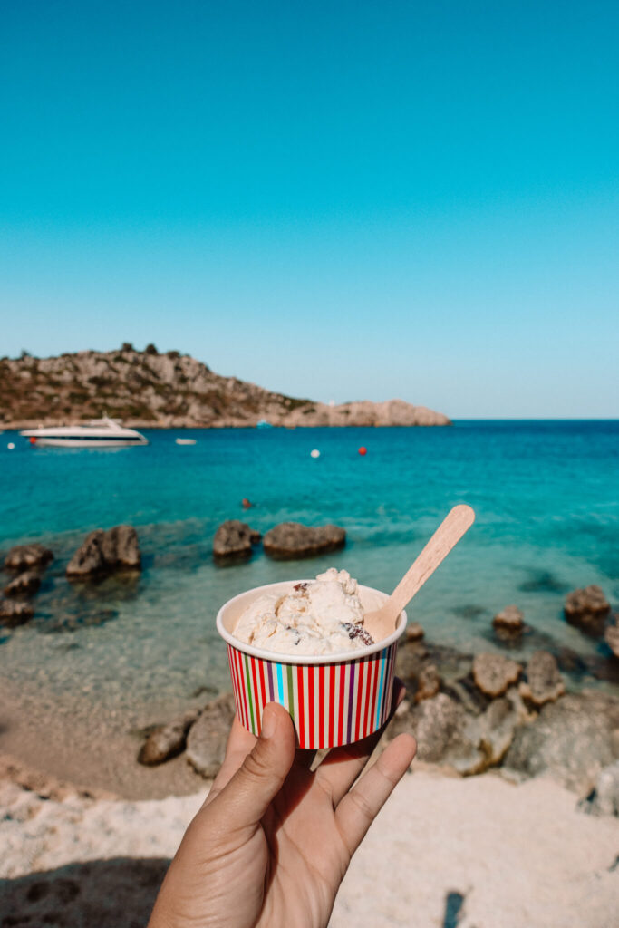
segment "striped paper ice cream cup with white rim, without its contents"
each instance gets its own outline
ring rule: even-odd
[[[229,599],[217,613],[217,631],[226,641],[232,688],[241,724],[260,734],[267,702],[290,712],[301,748],[333,748],[366,738],[387,720],[398,638],[406,628],[401,612],[389,638],[339,654],[280,654],[252,648],[232,630],[253,599],[264,593],[290,593],[290,580],[256,586]],[[386,593],[359,586],[366,611],[376,609]]]

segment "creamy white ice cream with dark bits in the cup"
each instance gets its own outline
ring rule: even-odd
[[[286,596],[255,599],[233,634],[254,648],[280,654],[335,654],[374,643],[363,625],[356,580],[334,567],[316,580],[295,584]]]

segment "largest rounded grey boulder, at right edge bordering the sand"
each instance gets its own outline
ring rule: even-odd
[[[535,721],[518,728],[505,767],[587,795],[618,754],[619,699],[583,690],[548,702]]]

